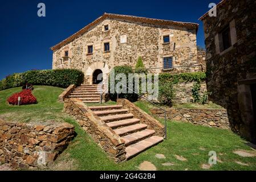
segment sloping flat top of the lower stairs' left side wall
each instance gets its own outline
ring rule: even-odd
[[[102,131],[106,135],[106,137],[111,140],[111,142],[117,147],[120,146],[121,144],[124,144],[124,140],[121,139],[119,135],[115,133],[111,129],[111,127],[107,126],[107,124],[100,119],[97,115],[94,114],[94,112],[87,107],[86,104],[84,104],[82,101],[80,101],[77,98],[71,98],[71,102],[73,102],[76,106],[79,107],[79,109],[86,114],[86,116],[90,119],[94,125],[96,125],[97,129]]]

